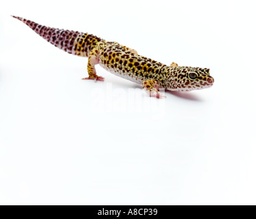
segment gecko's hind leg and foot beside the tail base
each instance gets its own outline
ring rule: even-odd
[[[91,51],[89,58],[88,58],[88,64],[87,64],[87,70],[89,77],[83,78],[83,80],[92,79],[95,81],[104,81],[104,77],[98,76],[95,70],[95,64],[99,64],[99,53],[100,49],[99,47],[94,47]]]

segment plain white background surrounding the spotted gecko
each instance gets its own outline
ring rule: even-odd
[[[0,204],[256,204],[254,1],[1,1]],[[212,88],[147,96],[12,17],[89,32]]]

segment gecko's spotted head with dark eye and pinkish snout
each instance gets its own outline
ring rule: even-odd
[[[170,79],[170,90],[178,91],[211,88],[214,82],[209,68],[171,67]]]

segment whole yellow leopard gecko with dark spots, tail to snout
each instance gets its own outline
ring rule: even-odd
[[[89,77],[84,79],[104,81],[95,70],[95,65],[100,64],[110,73],[141,84],[150,96],[157,98],[165,97],[159,92],[160,88],[189,91],[213,86],[214,79],[209,75],[209,68],[178,66],[174,62],[167,66],[139,55],[134,49],[92,34],[45,27],[25,18],[13,17],[59,49],[73,55],[88,57]]]

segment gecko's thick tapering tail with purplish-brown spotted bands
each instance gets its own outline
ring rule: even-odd
[[[93,36],[92,34],[84,34],[78,31],[45,27],[19,16],[12,17],[17,18],[18,20],[25,23],[45,40],[51,42],[51,44],[54,44],[54,46],[73,55],[88,57],[91,49],[93,49],[95,44],[97,44],[99,41],[102,41],[101,38]]]

